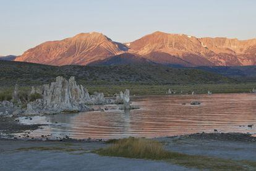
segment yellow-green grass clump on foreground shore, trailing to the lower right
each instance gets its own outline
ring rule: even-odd
[[[111,142],[111,141],[109,141]],[[166,151],[158,141],[145,138],[124,138],[112,141],[113,144],[104,149],[98,149],[96,154],[102,156],[128,157],[135,159],[164,160],[173,164],[207,170],[254,170],[256,162],[234,161],[216,157],[182,154]]]

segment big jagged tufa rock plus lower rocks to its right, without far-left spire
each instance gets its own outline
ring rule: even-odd
[[[32,91],[36,91],[32,88]],[[89,105],[124,104],[124,109],[130,108],[129,90],[120,93],[115,98],[105,98],[103,93],[90,96],[87,89],[77,85],[75,78],[66,80],[57,77],[51,85],[43,85],[40,93],[42,98],[27,104],[26,114],[54,114],[64,111],[91,111]]]

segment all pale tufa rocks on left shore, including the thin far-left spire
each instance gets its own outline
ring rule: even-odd
[[[92,111],[91,105],[105,105],[105,104],[120,104],[119,109],[137,109],[137,107],[130,106],[130,92],[129,90],[121,91],[115,94],[113,98],[105,98],[103,93],[94,93],[90,95],[86,88],[82,85],[77,85],[75,78],[70,77],[66,80],[63,77],[57,77],[55,82],[49,85],[42,85],[38,87],[32,86],[29,96],[37,94],[36,98],[28,101],[25,110],[22,110],[22,101],[19,99],[19,88],[15,85],[14,93],[11,101],[0,102],[0,107],[12,109],[9,113],[24,113],[28,115],[33,114],[56,114],[59,112],[80,112]],[[14,105],[15,104],[15,105]],[[0,110],[0,114],[2,112]]]

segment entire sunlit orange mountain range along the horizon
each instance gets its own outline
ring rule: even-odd
[[[14,60],[48,65],[256,65],[256,39],[196,38],[156,31],[130,43],[118,43],[102,33],[80,33],[39,44]]]

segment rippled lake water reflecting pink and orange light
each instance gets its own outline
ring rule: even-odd
[[[190,105],[200,101],[199,106]],[[186,105],[182,104],[186,103]],[[70,138],[124,138],[174,136],[197,132],[256,133],[256,94],[212,94],[132,97],[140,109],[35,116],[20,122],[46,123],[30,136]],[[254,125],[252,128],[247,125]]]

